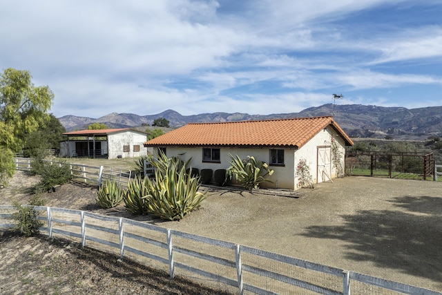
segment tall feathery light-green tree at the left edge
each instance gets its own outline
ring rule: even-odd
[[[26,136],[48,121],[54,93],[34,86],[28,70],[8,68],[0,74],[0,182],[14,174],[12,158],[21,151]]]

